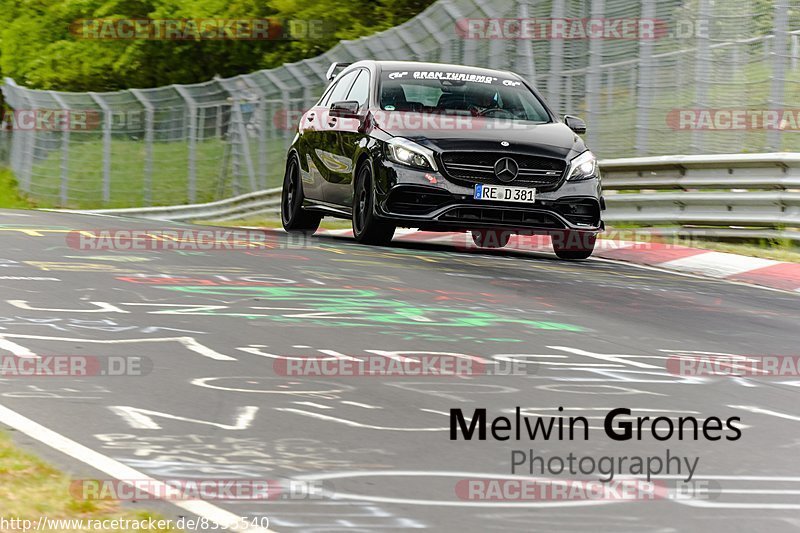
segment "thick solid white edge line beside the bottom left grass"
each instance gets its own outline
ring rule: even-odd
[[[107,457],[99,452],[87,448],[60,433],[44,427],[43,425],[34,422],[33,420],[22,416],[21,414],[12,411],[8,407],[0,405],[0,423],[8,427],[28,435],[29,437],[38,440],[39,442],[64,453],[73,459],[77,459],[104,474],[107,474],[118,481],[124,480],[142,480],[145,483],[141,484],[142,490],[150,494],[167,493],[168,487],[166,484],[151,478],[138,470],[135,470],[127,465],[120,463],[110,457]],[[148,490],[149,489],[149,490]],[[151,492],[152,491],[152,492]],[[224,509],[212,505],[206,501],[201,500],[186,500],[186,501],[170,501],[176,507],[190,512],[193,515],[201,518],[206,518],[211,522],[217,524],[233,524],[233,531],[242,531],[246,533],[275,533],[274,530],[262,527],[247,527],[241,528],[239,524],[241,518],[239,515],[228,512]]]

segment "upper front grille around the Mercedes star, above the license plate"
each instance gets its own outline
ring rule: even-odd
[[[519,175],[509,185],[555,188],[567,168],[566,161],[551,157],[498,152],[445,152],[442,164],[447,176],[462,185],[489,183],[503,185],[494,173],[494,164],[502,157],[510,157],[519,166]]]

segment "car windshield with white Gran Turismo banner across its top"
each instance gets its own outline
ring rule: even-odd
[[[551,121],[542,103],[522,82],[480,72],[384,71],[380,106],[386,111]]]

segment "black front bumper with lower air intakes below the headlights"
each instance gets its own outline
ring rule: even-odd
[[[599,180],[564,182],[538,192],[533,204],[475,200],[474,189],[438,172],[385,163],[379,170],[376,214],[399,226],[430,231],[496,228],[531,232],[572,230],[599,233]]]

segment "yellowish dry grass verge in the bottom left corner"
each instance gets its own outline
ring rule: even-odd
[[[143,511],[122,509],[109,500],[83,500],[70,493],[70,478],[44,461],[16,447],[7,432],[0,431],[0,516],[33,520],[147,520],[160,517]],[[3,529],[2,532],[22,532],[22,529]],[[79,531],[76,528],[47,528],[58,533]],[[127,531],[105,529],[105,532]],[[167,531],[140,529],[142,531]]]

